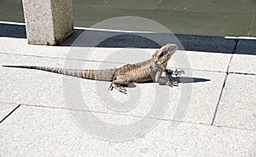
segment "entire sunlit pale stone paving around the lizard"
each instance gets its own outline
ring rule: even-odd
[[[147,60],[156,49],[11,37],[0,45],[0,65],[91,69]],[[178,50],[168,64],[185,71],[178,87],[131,84],[127,95],[109,82],[0,67],[0,156],[256,156],[255,45]]]

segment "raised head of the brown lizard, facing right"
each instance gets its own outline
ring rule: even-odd
[[[171,59],[174,52],[177,50],[177,44],[166,44],[160,49],[156,50],[153,58],[155,63],[164,70],[168,61]]]

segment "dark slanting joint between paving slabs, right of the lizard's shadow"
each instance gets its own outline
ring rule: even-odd
[[[234,46],[233,53],[232,53],[232,55],[231,55],[231,57],[230,57],[229,66],[227,67],[226,76],[225,76],[225,78],[224,78],[224,83],[223,83],[222,88],[221,88],[221,90],[220,90],[220,94],[219,94],[219,97],[218,97],[218,103],[217,103],[217,106],[216,106],[215,111],[214,111],[214,114],[213,114],[213,118],[212,118],[212,123],[211,123],[211,125],[213,125],[213,123],[214,123],[214,121],[215,121],[215,119],[216,119],[216,114],[217,114],[217,112],[218,112],[218,106],[219,106],[219,103],[220,103],[221,98],[222,98],[222,96],[223,96],[223,91],[224,91],[224,87],[225,87],[226,81],[227,81],[228,76],[229,76],[229,74],[230,74],[230,63],[231,63],[231,61],[232,61],[232,59],[233,59],[233,55],[236,53],[236,47],[237,47],[237,44],[238,44],[238,42],[239,42],[239,39],[236,38],[236,39],[235,39],[235,42],[236,42],[236,44],[235,44],[235,46]]]

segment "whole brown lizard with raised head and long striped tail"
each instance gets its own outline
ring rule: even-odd
[[[109,90],[119,90],[126,94],[125,87],[132,82],[148,82],[153,80],[159,84],[169,86],[177,86],[177,81],[161,78],[162,73],[166,75],[177,75],[182,71],[172,71],[166,69],[167,62],[171,59],[174,52],[177,50],[176,44],[166,44],[154,52],[152,58],[148,61],[139,62],[136,64],[127,64],[123,67],[104,69],[104,70],[89,70],[89,69],[64,69],[58,67],[35,67],[35,66],[3,66],[3,67],[19,67],[43,70],[51,73],[60,73],[78,78],[95,79],[102,81],[112,81]]]

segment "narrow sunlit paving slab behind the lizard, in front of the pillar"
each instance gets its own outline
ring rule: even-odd
[[[47,58],[109,61],[116,63],[136,63],[151,58],[155,49],[134,48],[91,48],[91,47],[66,47],[66,46],[39,46],[26,44],[26,39],[0,38],[0,50],[2,54],[32,55]],[[72,53],[70,53],[72,52]],[[178,50],[169,62],[169,67],[188,68],[195,70],[225,72],[230,54],[201,53],[196,51]],[[218,63],[216,63],[218,60]],[[7,62],[8,60],[5,60]],[[8,63],[8,62],[7,62]],[[18,64],[19,62],[17,62]]]

